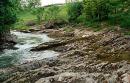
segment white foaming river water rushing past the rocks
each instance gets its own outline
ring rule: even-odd
[[[30,51],[31,47],[53,40],[46,34],[21,32],[12,32],[12,34],[18,37],[18,43],[15,45],[15,48],[17,49],[5,49],[2,53],[0,53],[0,68],[9,67],[16,64],[23,64],[34,60],[50,58],[58,55],[57,52],[51,50],[40,52]]]

